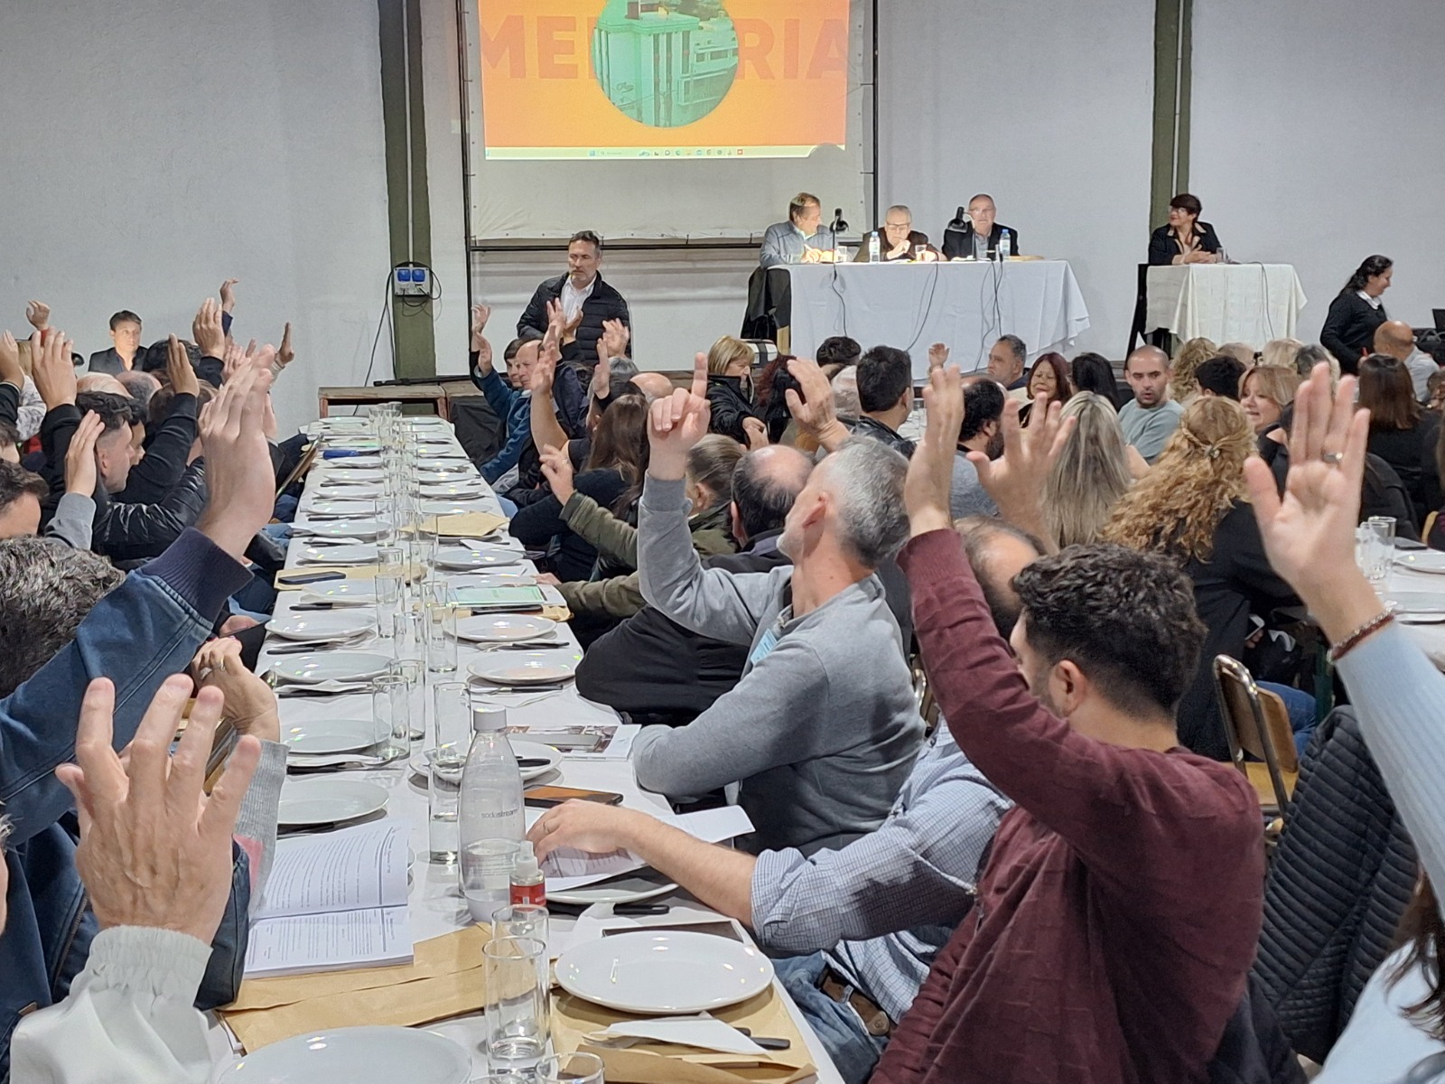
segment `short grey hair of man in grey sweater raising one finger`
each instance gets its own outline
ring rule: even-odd
[[[907,541],[903,477],[907,460],[880,441],[855,436],[822,461],[838,500],[842,545],[866,568],[877,568]]]

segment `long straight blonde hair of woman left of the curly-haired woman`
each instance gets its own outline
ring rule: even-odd
[[[1097,542],[1110,513],[1133,484],[1118,415],[1092,392],[1064,405],[1064,418],[1078,418],[1064,451],[1043,481],[1043,529],[1059,546]]]

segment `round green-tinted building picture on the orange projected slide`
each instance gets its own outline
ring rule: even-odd
[[[608,0],[592,33],[607,98],[650,127],[708,116],[737,75],[737,32],[721,0]]]

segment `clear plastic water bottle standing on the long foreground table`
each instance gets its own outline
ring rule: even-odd
[[[512,861],[526,835],[522,769],[507,741],[507,710],[471,711],[471,749],[461,770],[457,808],[461,890],[474,922],[491,922],[507,906]]]

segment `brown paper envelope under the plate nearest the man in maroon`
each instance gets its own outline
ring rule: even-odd
[[[733,1026],[747,1028],[753,1035],[790,1039],[786,1051],[760,1054],[722,1054],[696,1046],[666,1042],[643,1042],[617,1048],[592,1042],[588,1036],[618,1023],[639,1023],[656,1018],[639,1018],[604,1009],[581,997],[561,993],[552,1002],[552,1042],[559,1052],[585,1051],[605,1064],[607,1084],[793,1084],[816,1072],[808,1057],[802,1033],[788,1015],[777,989],[770,986],[757,997],[750,997],[730,1009],[711,1013]],[[741,1038],[741,1036],[740,1036]]]

